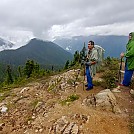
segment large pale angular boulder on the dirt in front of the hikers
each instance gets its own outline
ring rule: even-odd
[[[96,95],[88,96],[83,100],[83,103],[87,106],[95,106],[98,109],[121,113],[116,98],[110,89],[105,89]]]

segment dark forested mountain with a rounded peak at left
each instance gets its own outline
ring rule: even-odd
[[[72,54],[52,42],[32,39],[16,50],[0,52],[0,62],[6,64],[23,65],[26,60],[32,59],[42,65],[63,65],[72,59]]]

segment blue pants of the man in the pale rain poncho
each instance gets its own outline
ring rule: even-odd
[[[86,76],[87,76],[87,85],[88,88],[92,88],[93,87],[93,83],[92,83],[92,77],[90,74],[90,70],[89,70],[89,66],[86,65]]]

